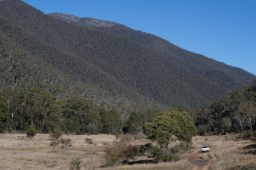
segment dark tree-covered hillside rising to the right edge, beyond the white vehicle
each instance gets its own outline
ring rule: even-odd
[[[256,80],[195,114],[200,134],[256,130]]]

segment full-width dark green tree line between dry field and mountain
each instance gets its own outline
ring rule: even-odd
[[[199,135],[246,132],[252,135],[256,131],[256,80],[202,109],[177,107],[169,111],[189,114]],[[35,87],[0,94],[1,132],[28,130],[34,123],[41,133],[60,127],[64,133],[138,134],[163,113],[162,109],[147,108],[124,114],[77,96],[60,101],[50,91]]]

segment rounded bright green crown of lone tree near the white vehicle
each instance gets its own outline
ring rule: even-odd
[[[166,111],[152,122],[144,123],[144,133],[148,139],[157,141],[160,148],[168,146],[173,136],[190,142],[196,136],[196,127],[186,112]]]

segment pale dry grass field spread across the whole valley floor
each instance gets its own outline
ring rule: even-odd
[[[70,169],[73,159],[80,158],[81,169],[114,170],[164,170],[164,169],[256,169],[255,141],[240,140],[238,135],[196,136],[195,149],[180,156],[177,162],[158,164],[124,165],[114,168],[100,168],[104,165],[104,148],[113,143],[112,135],[64,135],[71,144],[68,147],[50,146],[52,140],[47,134],[37,134],[32,139],[25,134],[0,134],[0,169]],[[86,143],[90,138],[93,144]],[[138,140],[134,143],[147,143]],[[200,152],[203,145],[209,145],[211,152]],[[253,154],[254,153],[254,154]],[[191,162],[203,162],[203,166]]]

